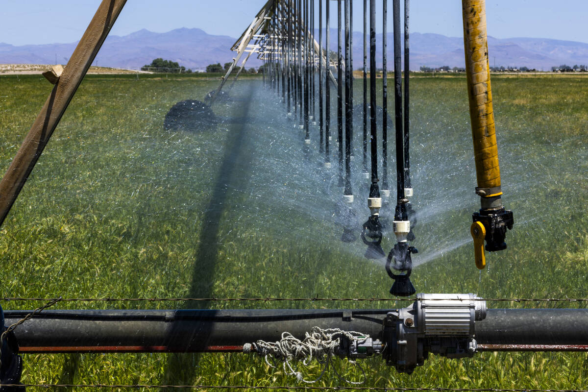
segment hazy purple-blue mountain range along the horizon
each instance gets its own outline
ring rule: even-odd
[[[316,31],[318,36],[318,31]],[[323,35],[324,36],[324,35]],[[337,49],[336,30],[330,34],[330,50]],[[387,34],[389,68],[393,68],[393,36]],[[363,36],[353,33],[353,68],[363,64]],[[125,36],[109,36],[96,56],[94,65],[116,68],[139,69],[155,58],[176,61],[186,68],[202,69],[211,63],[231,61],[235,52],[230,46],[235,38],[226,35],[210,35],[201,29],[181,28],[166,33],[141,30]],[[379,43],[377,57],[382,56],[382,34],[376,35]],[[548,71],[552,66],[588,65],[588,43],[560,41],[547,38],[493,38],[489,37],[491,66],[526,66]],[[77,42],[49,45],[13,46],[0,43],[0,63],[65,63],[74,51]],[[377,62],[381,66],[381,61]],[[261,62],[252,56],[248,66],[259,66]],[[420,66],[443,65],[464,66],[463,38],[447,37],[433,33],[411,33],[410,69]]]

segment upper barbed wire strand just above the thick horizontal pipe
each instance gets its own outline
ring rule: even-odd
[[[41,298],[41,297],[2,297],[0,300],[3,301],[55,301],[58,298]],[[378,301],[420,301],[422,299],[412,298],[320,298],[320,297],[309,297],[309,298],[277,298],[277,297],[254,297],[254,298],[158,298],[158,297],[138,297],[138,298],[62,298],[59,297],[59,301],[62,302],[182,302],[182,301],[200,301],[200,302],[279,302],[279,301],[354,301],[354,302],[378,302]],[[455,300],[462,301],[459,298],[427,298],[427,301],[446,301]],[[490,301],[490,302],[588,302],[588,298],[475,298],[469,299],[473,301]]]

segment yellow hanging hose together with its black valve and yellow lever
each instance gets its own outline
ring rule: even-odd
[[[486,6],[484,0],[463,0],[463,41],[466,53],[467,93],[481,208],[473,213],[470,232],[474,239],[476,266],[486,266],[486,250],[506,249],[506,230],[512,229],[511,210],[502,205],[496,127],[490,88]]]

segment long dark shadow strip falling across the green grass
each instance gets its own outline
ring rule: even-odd
[[[250,86],[248,96],[253,93]],[[192,298],[210,298],[213,294],[215,267],[218,262],[220,220],[230,196],[229,184],[239,188],[248,182],[247,167],[251,150],[247,143],[250,99],[239,105],[237,113],[230,121],[229,135],[226,138],[225,153],[218,172],[218,179],[212,189],[210,202],[206,206],[202,222],[201,236],[192,272],[192,286],[188,293]],[[208,301],[191,301],[185,309],[208,309]],[[202,332],[202,331],[201,331]],[[173,332],[172,332],[173,334]],[[188,339],[191,340],[191,339]],[[191,384],[197,376],[200,354],[169,354],[163,373],[163,384]]]

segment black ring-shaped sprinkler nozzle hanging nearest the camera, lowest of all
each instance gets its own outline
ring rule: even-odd
[[[413,246],[408,246],[406,242],[397,242],[388,253],[386,259],[386,272],[394,279],[394,284],[390,289],[390,294],[397,297],[407,297],[416,293],[415,286],[410,282],[410,273],[412,272],[412,258],[410,254],[418,253]],[[394,264],[390,268],[390,264]]]

